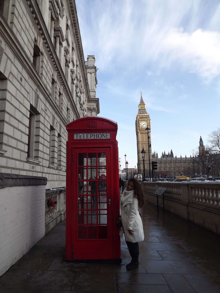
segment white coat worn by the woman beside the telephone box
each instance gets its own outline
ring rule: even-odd
[[[141,216],[138,212],[138,199],[133,197],[133,194],[133,190],[126,191],[125,189],[121,195],[121,220],[123,230],[119,232],[119,235],[122,238],[124,232],[126,241],[134,243],[144,240],[144,231]],[[124,197],[126,197],[126,199],[123,202]],[[133,235],[129,234],[128,230],[133,230]]]

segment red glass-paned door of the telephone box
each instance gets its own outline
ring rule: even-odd
[[[74,258],[112,258],[110,148],[76,148],[73,155]]]

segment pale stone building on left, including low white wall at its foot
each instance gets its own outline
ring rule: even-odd
[[[66,125],[99,114],[75,0],[0,1],[0,275],[65,219]]]

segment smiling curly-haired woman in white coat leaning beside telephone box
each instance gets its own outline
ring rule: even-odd
[[[144,205],[144,196],[141,184],[134,178],[128,180],[127,186],[121,195],[121,220],[123,230],[119,235],[125,234],[131,263],[126,265],[127,270],[138,268],[139,241],[144,240],[143,224],[138,208]]]

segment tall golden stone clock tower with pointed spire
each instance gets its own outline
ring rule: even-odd
[[[135,121],[135,128],[136,128],[136,137],[137,137],[137,154],[138,154],[138,164],[137,170],[138,174],[143,174],[143,158],[141,151],[144,148],[145,150],[145,176],[149,177],[149,155],[150,155],[150,168],[151,168],[151,161],[152,161],[152,154],[151,154],[151,137],[150,137],[150,130],[147,132],[147,127],[150,127],[150,116],[146,111],[145,103],[142,98],[141,93],[141,100],[138,107],[138,114]],[[149,139],[149,149],[148,149],[148,139]]]

